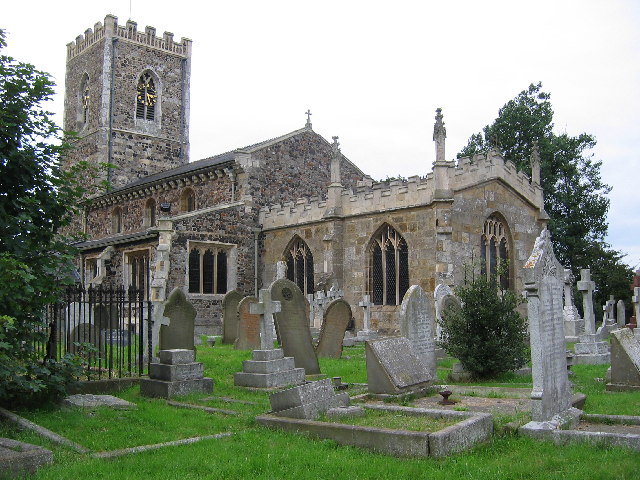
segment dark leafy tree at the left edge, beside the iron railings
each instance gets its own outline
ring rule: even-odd
[[[0,50],[6,46],[0,30]],[[48,336],[43,320],[65,283],[75,251],[62,235],[84,189],[86,164],[65,172],[68,148],[42,104],[54,83],[32,65],[0,56],[0,403],[61,393],[74,374],[71,358],[35,348]],[[44,358],[43,358],[44,357]]]

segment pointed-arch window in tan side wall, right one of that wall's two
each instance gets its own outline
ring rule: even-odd
[[[409,249],[393,227],[384,225],[369,247],[369,293],[376,305],[400,305],[409,289]]]

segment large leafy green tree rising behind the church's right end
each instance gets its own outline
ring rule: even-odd
[[[622,263],[620,252],[605,242],[606,195],[611,187],[602,181],[602,161],[594,161],[589,153],[596,140],[587,133],[555,134],[550,98],[542,91],[542,83],[529,85],[499,110],[491,125],[469,138],[458,158],[498,148],[505,159],[530,175],[529,158],[537,141],[544,208],[558,260],[574,275],[581,268],[591,268],[593,278],[607,279],[606,284],[598,284],[596,302],[604,303],[609,294],[629,301],[633,272]]]

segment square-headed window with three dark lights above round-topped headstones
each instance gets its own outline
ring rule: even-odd
[[[193,246],[189,252],[189,293],[227,293],[227,248]]]

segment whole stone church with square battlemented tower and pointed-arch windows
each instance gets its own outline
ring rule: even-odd
[[[356,327],[397,331],[410,285],[434,291],[472,269],[522,290],[522,266],[547,221],[539,161],[531,178],[497,152],[446,160],[440,109],[431,172],[378,183],[333,142],[303,128],[191,162],[191,41],[108,15],[67,46],[68,164],[108,163],[111,189],[85,205],[85,284],[184,289],[196,333],[220,334],[224,294],[255,294],[276,262],[303,293],[341,289]],[[308,117],[309,118],[309,117]]]

